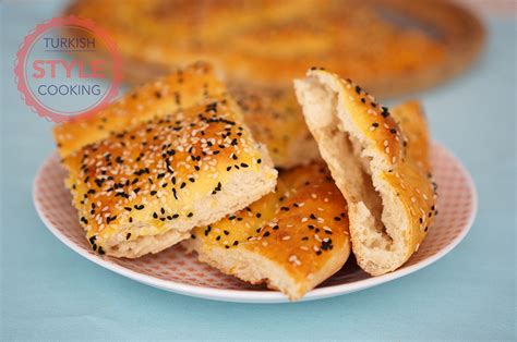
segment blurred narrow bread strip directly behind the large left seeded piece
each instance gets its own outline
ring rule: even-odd
[[[129,91],[93,117],[56,125],[53,136],[61,157],[65,157],[87,144],[152,118],[209,103],[214,98],[226,96],[226,91],[213,68],[197,62]]]

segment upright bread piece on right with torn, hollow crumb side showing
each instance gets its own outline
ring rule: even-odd
[[[358,264],[373,276],[395,270],[418,249],[436,213],[426,125],[418,105],[389,112],[359,86],[324,70],[309,71],[294,87],[349,205]]]

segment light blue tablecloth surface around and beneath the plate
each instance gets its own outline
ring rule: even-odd
[[[288,305],[177,295],[117,276],[53,237],[32,204],[53,150],[50,123],[23,103],[13,60],[60,2],[2,4],[1,339],[512,339],[515,302],[516,24],[488,19],[479,64],[418,96],[434,138],[480,196],[470,234],[438,262],[359,293]]]

